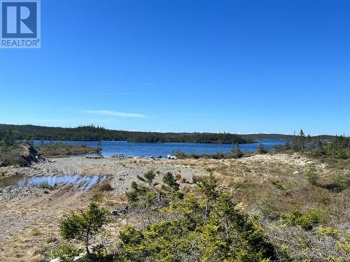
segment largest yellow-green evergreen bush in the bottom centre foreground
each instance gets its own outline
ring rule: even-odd
[[[170,176],[169,176],[170,177]],[[170,187],[174,180],[164,177]],[[197,194],[174,198],[157,211],[158,221],[120,231],[119,261],[275,260],[258,218],[236,210],[213,175],[199,180]],[[177,186],[174,186],[177,189]]]

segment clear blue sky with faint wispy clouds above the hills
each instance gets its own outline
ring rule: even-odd
[[[42,0],[0,123],[350,136],[350,1]]]

